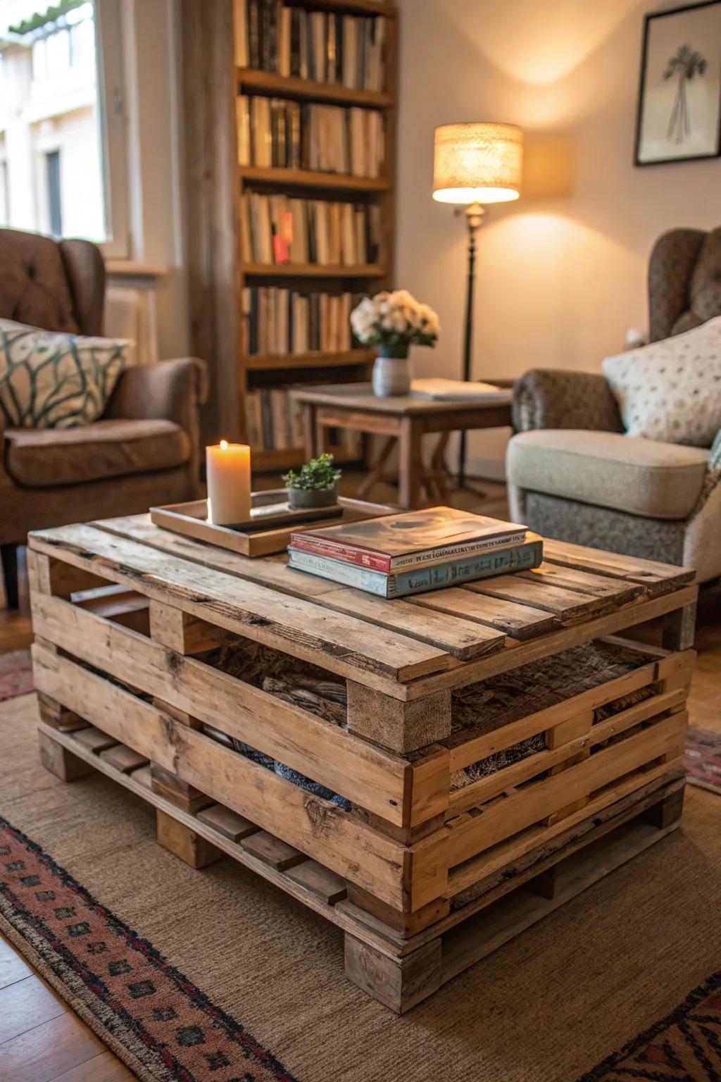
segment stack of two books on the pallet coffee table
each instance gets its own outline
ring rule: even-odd
[[[406,597],[538,567],[525,526],[428,507],[291,535],[290,566],[379,597]]]

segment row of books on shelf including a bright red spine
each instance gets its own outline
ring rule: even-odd
[[[380,261],[382,216],[376,203],[246,192],[241,224],[245,263],[355,267]]]

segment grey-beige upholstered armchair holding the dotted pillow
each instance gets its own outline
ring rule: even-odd
[[[649,272],[651,341],[721,315],[721,228],[673,229]],[[721,576],[721,433],[712,448],[627,437],[603,375],[535,369],[516,386],[511,515],[546,537]]]

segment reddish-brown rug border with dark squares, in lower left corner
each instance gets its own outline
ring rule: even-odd
[[[0,927],[143,1082],[296,1082],[239,1021],[2,817]]]

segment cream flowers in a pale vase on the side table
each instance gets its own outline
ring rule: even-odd
[[[350,326],[359,342],[378,347],[373,366],[373,393],[378,398],[409,393],[409,349],[412,345],[435,346],[441,332],[437,313],[405,289],[364,298],[353,311]]]

